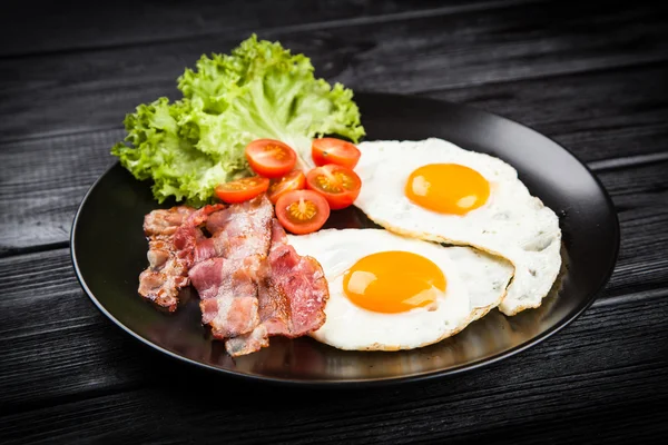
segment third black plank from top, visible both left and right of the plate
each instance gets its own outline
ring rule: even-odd
[[[431,96],[527,122],[581,159],[601,162],[666,152],[668,95],[660,93],[656,85],[667,76],[668,65],[660,65]],[[115,161],[109,149],[122,137],[122,130],[110,129],[0,144],[0,255],[66,243],[76,208],[95,179]],[[650,180],[660,180],[660,175]]]

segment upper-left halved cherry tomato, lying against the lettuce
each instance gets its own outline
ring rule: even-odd
[[[256,139],[246,146],[245,154],[253,171],[266,178],[279,178],[297,162],[295,150],[275,139]]]

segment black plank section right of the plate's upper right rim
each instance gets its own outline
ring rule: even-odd
[[[468,103],[518,120],[553,137],[583,160],[600,164],[667,151],[666,77],[668,65],[658,63],[422,96]]]

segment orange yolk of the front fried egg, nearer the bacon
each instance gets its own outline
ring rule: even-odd
[[[445,276],[430,259],[409,251],[381,251],[361,258],[343,277],[355,305],[376,313],[403,313],[432,305],[445,291]]]

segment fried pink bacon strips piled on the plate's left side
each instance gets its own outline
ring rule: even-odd
[[[324,323],[322,268],[286,243],[265,195],[228,207],[154,210],[145,230],[160,238],[149,241],[139,294],[174,312],[179,289],[191,284],[203,325],[225,340],[229,355],[250,354],[268,346],[272,335],[302,336]]]

